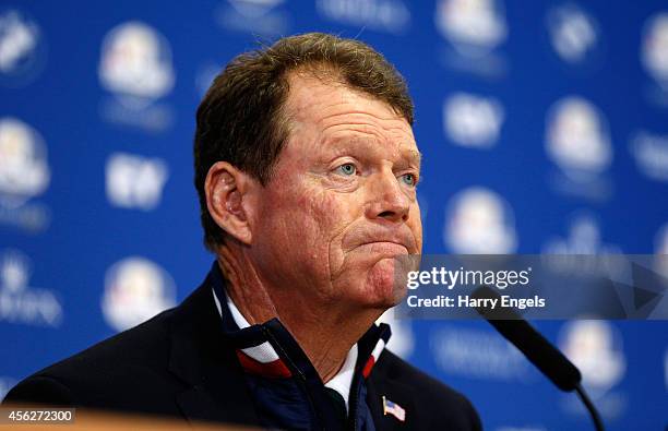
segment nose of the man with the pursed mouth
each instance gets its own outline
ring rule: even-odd
[[[407,222],[410,197],[394,172],[377,172],[369,182],[367,217]]]

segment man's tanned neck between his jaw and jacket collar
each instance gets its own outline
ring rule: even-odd
[[[350,348],[378,319],[380,310],[339,310],[314,303],[312,298],[262,283],[253,265],[240,253],[218,250],[218,265],[227,280],[227,295],[252,325],[278,318],[307,355],[323,383],[341,370]]]

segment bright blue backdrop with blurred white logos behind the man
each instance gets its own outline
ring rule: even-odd
[[[668,254],[659,0],[3,1],[0,397],[198,286],[212,262],[192,185],[199,100],[235,55],[309,31],[365,40],[407,79],[426,253]],[[537,326],[610,430],[665,427],[666,322]],[[486,429],[591,429],[482,322],[394,333]]]

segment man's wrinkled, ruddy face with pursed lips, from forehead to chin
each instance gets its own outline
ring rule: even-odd
[[[260,275],[277,295],[392,307],[403,295],[393,258],[422,247],[413,130],[385,103],[341,84],[289,82],[289,137],[252,222]]]

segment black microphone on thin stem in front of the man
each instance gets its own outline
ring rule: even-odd
[[[501,303],[499,294],[488,287],[480,286],[473,292],[476,299],[494,299],[494,303]],[[491,303],[492,301],[477,301],[478,303]],[[576,391],[585,407],[592,415],[594,426],[603,431],[603,421],[594,407],[594,404],[581,385],[582,374],[558,348],[552,346],[538,331],[528,324],[512,308],[476,307],[476,311],[482,315],[505,339],[511,342],[524,356],[542,372],[557,387],[564,392]]]

